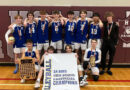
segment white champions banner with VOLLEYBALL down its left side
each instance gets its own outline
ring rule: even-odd
[[[44,60],[42,90],[80,90],[77,59],[71,54],[49,54]]]

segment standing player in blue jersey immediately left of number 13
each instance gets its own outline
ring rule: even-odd
[[[79,48],[81,48],[83,55],[85,49],[87,48],[88,23],[92,20],[91,18],[87,18],[86,16],[87,12],[85,10],[81,10],[80,18],[77,19],[76,43],[75,43],[76,52],[78,52]]]

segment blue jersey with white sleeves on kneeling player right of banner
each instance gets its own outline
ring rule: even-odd
[[[95,56],[95,63],[100,63],[101,61],[101,50],[95,49],[91,50],[91,48],[86,49],[84,54],[84,61],[89,61],[91,56]]]

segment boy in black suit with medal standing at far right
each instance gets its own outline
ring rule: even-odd
[[[118,23],[113,21],[113,17],[114,14],[112,12],[106,12],[105,18],[107,21],[104,22],[104,35],[103,35],[102,61],[101,61],[102,71],[100,71],[101,75],[105,73],[106,55],[108,51],[109,51],[109,62],[107,73],[109,75],[112,75],[111,66],[115,55],[119,34],[119,25]]]

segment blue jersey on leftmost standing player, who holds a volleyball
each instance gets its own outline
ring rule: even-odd
[[[13,36],[15,38],[15,42],[13,47],[22,48],[25,44],[25,33],[24,26],[19,26],[17,24],[13,25]]]

